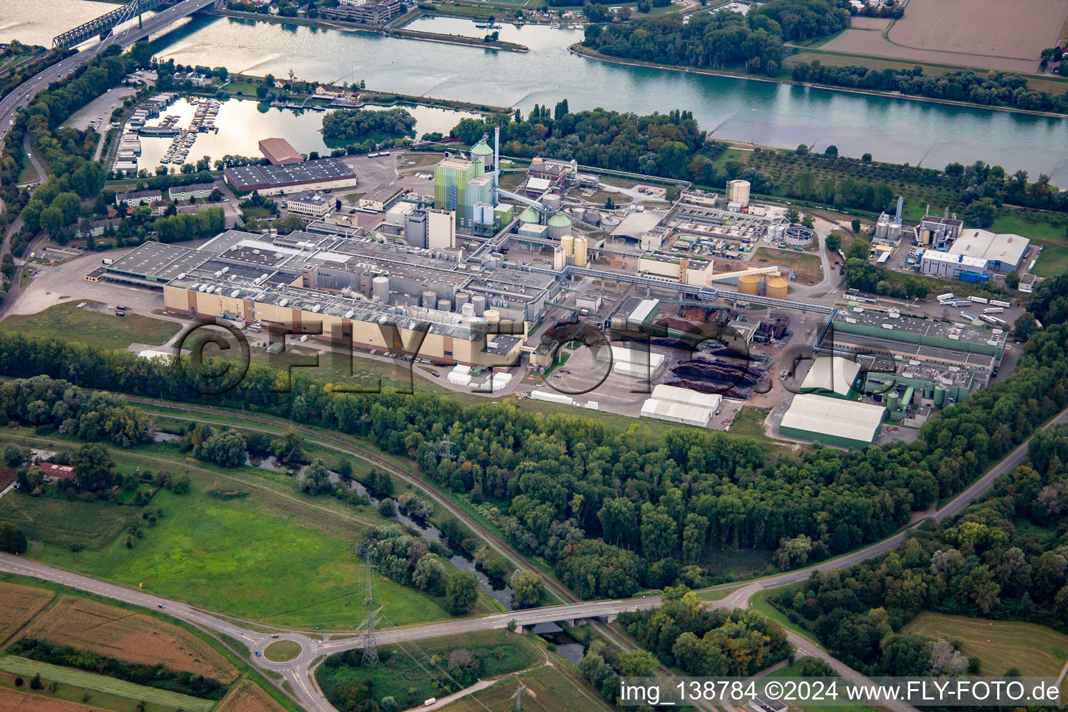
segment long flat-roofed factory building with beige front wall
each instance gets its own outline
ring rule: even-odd
[[[145,242],[85,279],[162,288],[166,308],[184,316],[308,329],[310,338],[488,367],[518,363],[528,307],[543,308],[556,288],[502,268],[473,279],[456,249],[315,225],[324,232],[226,231],[195,250]],[[513,308],[520,297],[530,304]]]

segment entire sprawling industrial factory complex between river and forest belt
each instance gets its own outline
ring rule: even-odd
[[[502,169],[484,138],[437,162],[433,192],[361,186],[345,212],[330,192],[357,185],[349,163],[262,147],[272,164],[227,168],[227,183],[283,195],[303,230],[146,242],[85,279],[268,332],[260,346],[273,352],[299,335],[419,362],[445,387],[695,427],[729,429],[743,405],[780,407],[775,436],[842,447],[917,427],[985,387],[1008,348],[1000,319],[932,318],[848,292],[796,299],[790,262],[753,252],[819,250],[820,235],[753,203],[744,180],[725,196],[684,187],[673,203],[603,209],[582,200],[598,179],[574,161]],[[522,173],[511,190],[505,171]],[[911,238],[912,269],[962,280],[1014,269],[1027,249],[948,217],[906,227],[900,209],[874,233],[874,259]]]

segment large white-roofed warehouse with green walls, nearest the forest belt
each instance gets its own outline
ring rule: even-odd
[[[882,406],[803,393],[794,396],[779,430],[784,436],[830,445],[864,447],[879,434],[885,414]]]

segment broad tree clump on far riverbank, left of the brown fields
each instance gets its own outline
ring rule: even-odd
[[[778,75],[784,42],[826,37],[849,26],[849,13],[827,0],[772,0],[747,15],[664,15],[586,26],[583,45],[610,57],[722,69],[743,66]]]

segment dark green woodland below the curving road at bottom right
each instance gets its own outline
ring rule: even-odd
[[[901,628],[933,611],[1068,631],[1065,513],[1068,427],[1054,426],[1036,432],[1024,464],[956,520],[925,523],[878,559],[813,574],[772,600],[869,675],[959,674],[968,661],[952,642]]]

